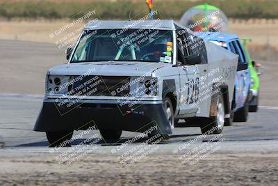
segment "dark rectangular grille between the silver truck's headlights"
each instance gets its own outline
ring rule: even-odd
[[[82,80],[68,86],[67,95],[129,95],[129,79],[130,77],[126,76],[85,76]]]

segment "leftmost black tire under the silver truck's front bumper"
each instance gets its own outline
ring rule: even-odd
[[[70,146],[67,141],[72,139],[73,130],[69,131],[58,131],[58,132],[45,132],[47,134],[47,140],[49,141],[49,147],[55,146]]]

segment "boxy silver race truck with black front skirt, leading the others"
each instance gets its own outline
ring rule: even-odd
[[[238,56],[172,20],[89,22],[67,59],[47,72],[34,128],[51,146],[92,126],[167,139],[179,119],[206,134],[229,120]]]

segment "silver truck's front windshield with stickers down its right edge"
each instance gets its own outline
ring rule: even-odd
[[[112,29],[84,31],[70,63],[145,61],[172,63],[172,31]]]

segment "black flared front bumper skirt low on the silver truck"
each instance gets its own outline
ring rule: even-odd
[[[162,101],[136,102],[132,107],[110,100],[82,100],[67,107],[45,99],[35,122],[35,131],[56,132],[85,130],[96,125],[98,129],[120,129],[145,132],[154,125],[161,134],[171,134]]]

